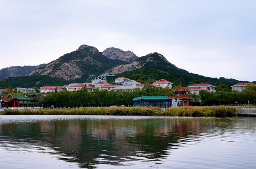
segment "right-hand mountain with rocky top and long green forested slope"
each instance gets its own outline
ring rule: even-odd
[[[224,77],[212,78],[190,73],[187,70],[177,68],[170,63],[162,54],[152,53],[140,57],[135,61],[115,66],[105,73],[111,73],[118,77],[128,77],[140,83],[153,83],[155,80],[164,78],[174,85],[194,83],[240,83],[239,80],[226,79]]]

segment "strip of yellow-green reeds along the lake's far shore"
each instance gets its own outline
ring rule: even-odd
[[[167,108],[75,108],[75,109],[47,109],[47,110],[10,110],[5,109],[2,115],[165,115],[165,116],[211,116],[232,117],[236,116],[236,107],[176,107]]]

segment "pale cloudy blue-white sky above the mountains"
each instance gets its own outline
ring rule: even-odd
[[[256,81],[255,0],[0,0],[0,69],[80,45],[163,54],[207,77]]]

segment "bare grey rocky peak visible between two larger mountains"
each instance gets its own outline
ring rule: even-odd
[[[134,61],[139,57],[131,51],[123,51],[115,47],[106,48],[102,54],[110,59],[121,60],[121,61]]]

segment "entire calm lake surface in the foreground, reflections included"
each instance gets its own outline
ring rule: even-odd
[[[0,115],[0,169],[255,166],[255,117]]]

